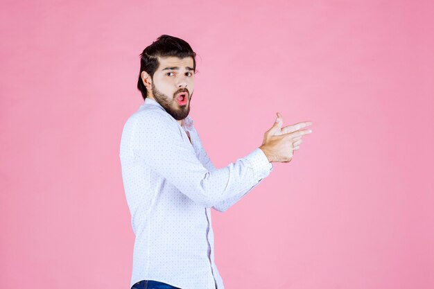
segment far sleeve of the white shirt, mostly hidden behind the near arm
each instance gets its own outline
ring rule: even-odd
[[[198,136],[198,133],[196,132],[196,130],[194,130],[193,132],[196,133],[196,137],[198,139],[198,144],[199,144],[199,149],[200,149],[200,158],[205,163],[205,167],[210,171],[216,170],[217,168],[214,166],[211,159],[208,157],[207,152],[205,151],[205,148],[203,148],[203,146],[202,146],[202,142],[200,141],[200,137]],[[259,150],[259,151],[257,151],[258,154],[261,154],[261,153],[263,154],[262,150],[260,150],[260,149],[258,149],[258,150]],[[263,154],[263,157],[266,158],[266,155]],[[268,161],[268,159],[267,159],[267,161]],[[271,172],[273,169],[272,163],[268,162],[268,168]],[[241,198],[243,198],[248,192],[252,191],[252,189],[255,186],[257,186],[261,181],[262,181],[262,179],[259,179],[259,181],[256,184],[254,184],[252,187],[250,187],[250,189],[247,189],[245,191],[241,191],[240,193],[238,193],[237,195],[234,195],[231,198],[227,198],[226,200],[218,202],[217,204],[215,204],[213,206],[213,208],[216,209],[217,211],[220,211],[220,212],[227,211],[227,209],[229,209],[234,204],[236,204],[236,202],[241,200]]]

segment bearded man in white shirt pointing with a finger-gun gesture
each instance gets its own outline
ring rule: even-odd
[[[217,169],[189,116],[196,53],[162,35],[141,53],[137,87],[144,104],[125,123],[121,166],[136,236],[132,288],[223,289],[214,263],[211,208],[226,211],[300,148],[302,122],[275,124],[262,146]]]

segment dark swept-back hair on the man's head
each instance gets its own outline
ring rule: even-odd
[[[139,89],[144,99],[146,98],[146,87],[143,80],[141,80],[141,71],[146,71],[153,78],[155,71],[159,67],[159,56],[176,56],[178,58],[191,56],[193,58],[193,69],[196,71],[196,53],[191,49],[190,44],[174,36],[161,35],[140,54],[140,73],[137,89]]]

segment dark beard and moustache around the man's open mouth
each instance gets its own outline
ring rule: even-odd
[[[155,87],[154,82],[152,83],[152,86],[155,101],[157,101],[157,103],[159,103],[159,105],[161,105],[164,110],[166,110],[166,112],[173,117],[173,119],[180,121],[182,119],[185,119],[189,115],[190,101],[193,97],[193,94],[186,96],[186,98],[188,98],[186,105],[178,105],[175,100],[175,95],[179,94],[180,92],[186,92],[187,94],[189,94],[189,91],[187,89],[178,89],[173,94],[173,98],[169,98],[168,96],[166,96],[166,94],[163,94]]]

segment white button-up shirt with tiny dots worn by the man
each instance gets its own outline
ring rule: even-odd
[[[263,151],[216,169],[191,117],[180,125],[146,98],[125,123],[119,156],[136,236],[130,286],[155,280],[182,289],[224,289],[210,209],[226,211],[269,175],[273,166]]]

